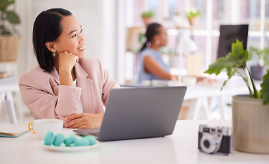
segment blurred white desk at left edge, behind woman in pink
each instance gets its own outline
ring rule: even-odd
[[[10,123],[15,124],[17,123],[12,92],[19,92],[19,91],[20,90],[18,88],[18,83],[5,83],[0,85],[0,108],[1,103],[5,101]]]

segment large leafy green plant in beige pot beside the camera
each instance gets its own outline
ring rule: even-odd
[[[231,45],[231,53],[220,57],[205,73],[218,75],[227,70],[228,79],[240,76],[246,82],[248,95],[232,96],[233,148],[244,152],[269,153],[269,70],[264,75],[261,90],[257,90],[253,77],[246,66],[248,51],[242,42]],[[244,72],[239,69],[243,68]]]

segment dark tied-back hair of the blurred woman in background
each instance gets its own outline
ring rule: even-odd
[[[148,44],[148,42],[151,42],[153,36],[155,36],[156,34],[159,34],[160,27],[162,27],[162,25],[159,25],[159,23],[151,23],[146,28],[146,42],[143,44],[142,48],[140,49],[140,52],[146,48],[146,44]]]

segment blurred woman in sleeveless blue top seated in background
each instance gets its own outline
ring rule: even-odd
[[[139,77],[138,81],[151,81],[164,79],[177,81],[177,77],[170,74],[169,67],[164,64],[159,48],[166,46],[166,29],[158,23],[151,23],[146,29],[146,42],[139,54]]]

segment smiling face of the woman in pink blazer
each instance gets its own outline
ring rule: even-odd
[[[85,36],[77,18],[75,16],[64,16],[61,25],[62,33],[54,42],[56,54],[59,55],[59,53],[67,51],[79,58],[85,57]]]

